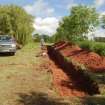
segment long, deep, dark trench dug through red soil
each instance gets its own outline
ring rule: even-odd
[[[47,46],[48,55],[51,60],[53,60],[55,64],[59,66],[70,79],[72,79],[77,89],[83,91],[87,95],[99,94],[98,84],[90,77],[90,75],[87,72],[84,72],[84,70],[81,70],[81,68],[75,65],[71,60],[68,60],[68,58],[71,59],[71,57],[69,57],[69,53],[65,54],[64,50],[69,52],[68,48],[71,48],[71,46],[72,43],[64,41],[55,43],[52,46]],[[77,47],[76,49],[79,50],[80,48]]]

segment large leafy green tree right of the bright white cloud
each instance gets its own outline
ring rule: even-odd
[[[55,34],[56,40],[78,40],[98,25],[98,13],[95,8],[87,6],[72,7],[69,16],[63,18]]]

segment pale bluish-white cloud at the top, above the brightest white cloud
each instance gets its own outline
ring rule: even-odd
[[[23,8],[31,15],[41,17],[52,16],[55,11],[44,0],[37,0],[32,5],[26,5]]]

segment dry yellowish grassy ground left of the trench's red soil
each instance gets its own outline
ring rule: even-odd
[[[38,44],[15,56],[0,55],[0,105],[68,105],[52,86],[52,75]]]

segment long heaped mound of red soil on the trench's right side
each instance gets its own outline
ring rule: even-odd
[[[82,50],[76,45],[66,45],[59,51],[62,55],[84,64],[92,72],[105,72],[105,57],[99,56],[94,52]]]

